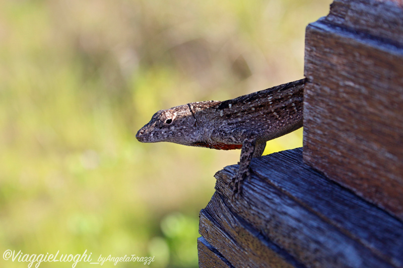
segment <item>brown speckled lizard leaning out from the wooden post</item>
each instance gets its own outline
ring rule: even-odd
[[[188,103],[158,111],[136,134],[140,142],[174,142],[219,150],[241,149],[232,180],[233,196],[241,194],[252,157],[261,156],[266,141],[302,127],[305,79],[274,86],[228,101]]]

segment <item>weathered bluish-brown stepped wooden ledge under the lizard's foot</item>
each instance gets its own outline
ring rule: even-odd
[[[234,267],[403,267],[403,223],[304,164],[301,148],[254,158],[230,202],[236,170],[216,173],[199,225]]]

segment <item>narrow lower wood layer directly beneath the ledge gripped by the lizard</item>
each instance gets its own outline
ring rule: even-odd
[[[235,267],[303,267],[233,214],[218,193],[200,211],[199,233]]]

